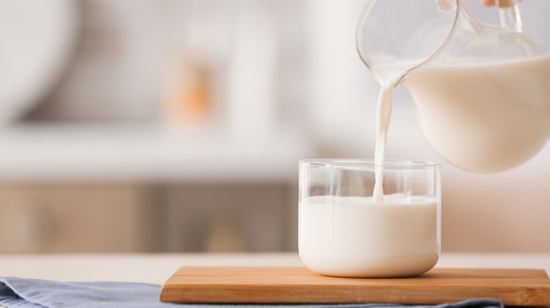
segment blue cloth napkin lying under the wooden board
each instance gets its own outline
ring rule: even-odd
[[[498,300],[468,300],[434,306],[403,304],[171,304],[159,302],[161,285],[132,282],[61,282],[0,277],[0,304],[22,308],[503,308]]]

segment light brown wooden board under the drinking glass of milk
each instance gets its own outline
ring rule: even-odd
[[[410,278],[338,278],[303,267],[182,267],[160,300],[180,303],[441,304],[475,298],[510,306],[550,306],[538,269],[432,269]]]

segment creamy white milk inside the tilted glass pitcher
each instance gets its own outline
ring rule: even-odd
[[[550,134],[548,72],[548,56],[432,63],[401,84],[436,153],[461,169],[500,172],[532,158]]]

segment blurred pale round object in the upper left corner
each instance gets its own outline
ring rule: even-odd
[[[66,69],[77,34],[77,1],[0,1],[0,123],[18,120],[44,99]]]

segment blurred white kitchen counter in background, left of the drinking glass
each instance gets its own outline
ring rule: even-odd
[[[295,131],[235,138],[160,124],[0,128],[0,181],[294,181],[310,143]]]

